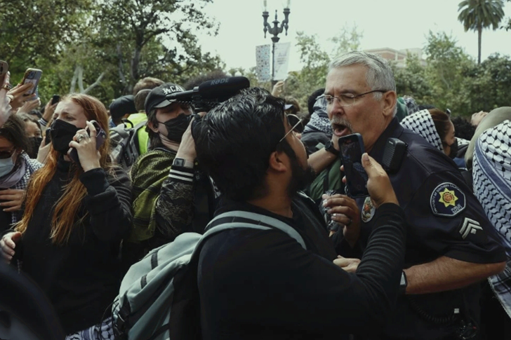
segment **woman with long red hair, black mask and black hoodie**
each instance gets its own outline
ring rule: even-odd
[[[0,241],[2,255],[19,259],[22,271],[46,292],[69,339],[111,336],[109,305],[119,292],[131,184],[110,165],[108,139],[96,150],[90,121],[108,128],[99,100],[69,95],[53,119],[46,164],[29,182],[21,221]],[[81,166],[70,161],[69,148],[77,150]]]

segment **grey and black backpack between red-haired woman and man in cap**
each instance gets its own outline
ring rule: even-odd
[[[123,125],[110,129],[110,157],[126,171],[140,156],[138,130],[146,123],[147,121],[141,121],[133,126],[133,123],[126,119]],[[131,128],[128,128],[128,124],[131,124]]]

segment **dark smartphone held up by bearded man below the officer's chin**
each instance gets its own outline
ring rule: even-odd
[[[369,196],[367,173],[362,166],[364,140],[359,133],[339,138],[340,159],[346,176],[346,194],[351,198]]]

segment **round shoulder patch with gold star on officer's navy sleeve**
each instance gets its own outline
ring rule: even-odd
[[[442,183],[431,193],[430,205],[433,215],[454,217],[465,210],[465,193],[452,183]]]

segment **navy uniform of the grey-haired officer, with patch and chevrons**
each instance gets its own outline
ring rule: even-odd
[[[405,268],[442,256],[473,263],[505,261],[503,247],[496,242],[495,229],[451,158],[432,147],[420,135],[403,128],[394,118],[369,153],[380,164],[390,137],[408,145],[401,167],[397,173],[389,174],[409,224]],[[357,198],[357,204],[361,210],[359,243],[364,250],[371,233],[375,208],[369,197]],[[453,304],[465,305],[463,311],[470,309],[474,315],[477,290],[470,292],[472,296],[466,297],[467,292],[474,288],[420,294],[411,299],[416,299],[420,309],[431,316],[451,313]],[[437,336],[449,334],[456,327],[440,327],[440,320],[432,322],[419,317],[416,312],[409,310],[406,299],[410,298],[400,297],[397,313],[390,322],[387,334],[397,339],[406,336],[412,336],[412,339],[437,339]],[[477,315],[474,317],[477,318]]]

